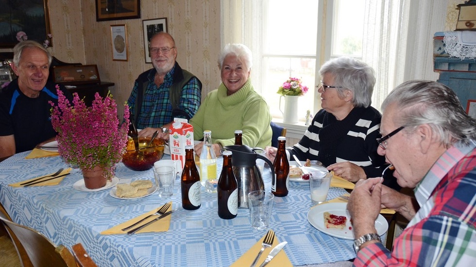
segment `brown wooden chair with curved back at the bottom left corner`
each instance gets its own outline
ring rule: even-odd
[[[23,267],[97,267],[81,244],[73,246],[75,257],[65,246],[56,247],[34,229],[9,220],[8,214],[0,212],[0,221],[14,241]]]

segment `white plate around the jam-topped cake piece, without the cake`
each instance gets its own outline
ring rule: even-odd
[[[342,230],[327,229],[324,225],[324,212],[326,211],[334,215],[347,217],[345,228]],[[354,231],[352,231],[350,215],[347,211],[347,203],[324,203],[316,205],[307,212],[307,220],[312,226],[314,226],[314,228],[323,232],[324,234],[342,239],[354,240]],[[375,220],[375,229],[377,230],[377,234],[379,236],[385,234],[389,229],[387,220],[385,220],[381,214],[379,214],[377,220]]]

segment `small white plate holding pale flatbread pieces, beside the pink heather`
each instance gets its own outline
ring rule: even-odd
[[[152,195],[157,191],[151,180],[136,180],[130,184],[118,184],[109,191],[109,195],[117,199],[137,199]]]

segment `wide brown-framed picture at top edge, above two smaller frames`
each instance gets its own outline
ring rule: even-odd
[[[96,0],[96,21],[140,18],[139,0]]]

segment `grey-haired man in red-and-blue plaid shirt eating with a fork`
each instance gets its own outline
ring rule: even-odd
[[[357,182],[347,209],[354,224],[355,266],[472,266],[476,262],[476,121],[455,93],[434,82],[396,87],[382,104],[378,153],[415,198]],[[409,220],[388,251],[374,220],[381,207]]]

